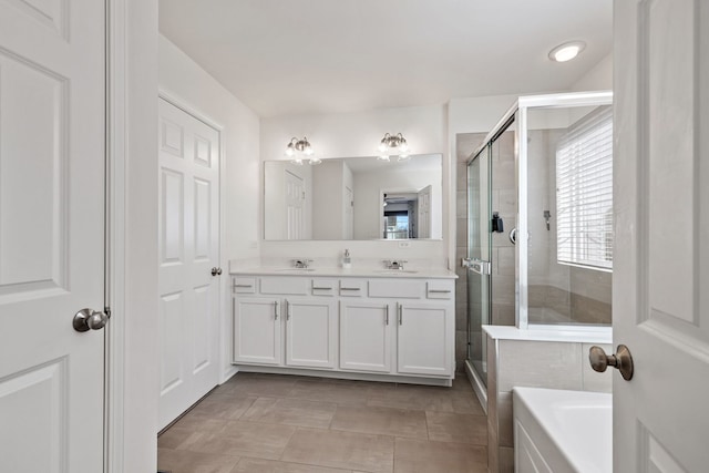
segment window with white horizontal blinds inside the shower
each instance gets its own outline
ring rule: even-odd
[[[613,109],[572,125],[556,150],[556,258],[613,268]]]

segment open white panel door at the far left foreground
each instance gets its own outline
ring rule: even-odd
[[[0,472],[103,471],[104,23],[0,2]]]

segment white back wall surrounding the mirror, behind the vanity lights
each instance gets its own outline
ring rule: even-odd
[[[443,222],[448,220],[450,198],[446,183],[451,169],[446,141],[446,107],[443,105],[379,109],[366,112],[297,115],[264,119],[260,127],[263,161],[285,160],[288,141],[307,136],[318,157],[373,156],[384,133],[402,133],[413,154],[443,154]],[[358,198],[357,192],[354,198]],[[446,265],[448,238],[442,241],[411,240],[408,248],[392,241],[261,241],[261,257],[295,256],[339,258],[345,248],[358,258],[432,259]],[[454,227],[453,227],[454,235]],[[316,263],[317,264],[317,263]]]

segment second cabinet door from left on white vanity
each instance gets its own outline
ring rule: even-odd
[[[335,301],[287,299],[285,305],[286,364],[335,368]]]

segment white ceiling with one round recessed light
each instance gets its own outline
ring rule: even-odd
[[[261,117],[568,89],[613,0],[161,0],[160,30]],[[574,61],[549,50],[583,40]]]

